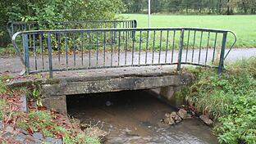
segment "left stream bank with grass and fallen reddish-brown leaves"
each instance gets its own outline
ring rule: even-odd
[[[61,138],[62,142],[73,143],[100,143],[98,137],[91,136],[89,130],[81,131],[79,124],[71,123],[65,115],[58,114],[54,110],[46,110],[40,102],[34,102],[33,98],[38,97],[38,92],[34,87],[7,88],[6,82],[11,77],[0,76],[0,121],[4,125],[14,128],[22,128],[30,134],[42,133],[44,137]],[[21,93],[27,92],[29,112],[20,110]],[[31,96],[34,95],[34,96]],[[12,137],[4,137],[0,131],[0,143],[15,142]]]

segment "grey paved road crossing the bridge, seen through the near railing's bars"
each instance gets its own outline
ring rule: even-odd
[[[213,52],[213,50],[209,50],[208,53],[211,53]],[[177,61],[177,57],[178,57],[178,52],[175,51],[173,53],[173,62],[176,62]],[[188,59],[187,61],[191,61],[192,58],[191,58],[191,54],[192,52],[189,51],[188,52]],[[145,52],[141,52],[140,53],[140,61],[139,61],[139,53],[136,53],[135,52],[135,56],[134,56],[134,64],[135,65],[138,65],[140,63],[141,64],[144,64],[145,63]],[[205,55],[206,55],[206,51],[203,50],[201,52],[201,58],[199,59],[198,56],[199,56],[199,50],[196,50],[194,51],[194,61],[199,61],[200,63],[204,64],[205,62]],[[171,52],[162,52],[160,54],[160,61],[159,61],[159,52],[155,52],[154,53],[154,58],[153,58],[153,63],[154,64],[157,64],[158,62],[159,63],[165,63],[165,59],[166,59],[166,56],[167,56],[167,62],[171,62]],[[231,62],[231,61],[236,61],[238,59],[242,59],[242,58],[247,58],[247,57],[250,57],[250,56],[256,56],[256,48],[235,48],[233,50],[231,50],[230,54],[226,57],[226,62]],[[72,67],[74,65],[74,61],[73,61],[73,56],[68,56],[69,57],[69,67]],[[131,52],[127,52],[126,54],[126,61],[125,61],[125,53],[124,52],[121,52],[120,53],[120,59],[119,59],[119,64],[120,65],[125,65],[125,62],[126,62],[126,65],[131,65],[131,60],[132,60],[132,53]],[[91,66],[94,66],[96,65],[96,53],[91,53],[91,61],[90,61],[90,65]],[[213,56],[208,54],[208,60],[207,60],[207,63],[208,61],[212,61],[213,59]],[[84,54],[84,66],[89,66],[89,55],[88,53],[87,54]],[[106,58],[105,58],[105,65],[111,65],[111,54],[110,53],[106,53]],[[183,53],[182,55],[182,60],[185,61],[185,52]],[[152,63],[152,53],[148,53],[147,54],[147,61],[148,63]],[[38,62],[38,67],[42,67],[41,63],[42,61],[40,61],[39,59],[37,60]],[[35,66],[34,66],[34,57],[31,56],[30,57],[30,67],[31,69],[35,69]],[[58,58],[57,56],[53,56],[53,65],[54,67],[63,67],[63,65],[66,65],[66,60],[65,60],[65,56],[61,56],[61,62],[59,63],[58,62]],[[83,66],[81,65],[81,56],[77,55],[76,56],[76,66]],[[103,53],[99,53],[98,54],[98,65],[103,65]],[[118,65],[118,55],[117,53],[113,53],[112,55],[112,65]],[[44,58],[44,66],[45,67],[48,67],[48,57],[45,57]],[[11,74],[19,74],[22,70],[22,65],[21,65],[21,61],[20,61],[20,58],[17,57],[17,56],[2,56],[0,58],[0,73],[4,73],[4,72],[9,72]]]

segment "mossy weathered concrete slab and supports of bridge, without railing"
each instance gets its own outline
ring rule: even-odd
[[[76,73],[80,75],[75,76]],[[70,74],[74,76],[59,77],[41,83],[44,106],[66,114],[66,96],[139,89],[154,89],[171,100],[173,92],[190,83],[193,78],[190,74],[171,71],[170,66],[80,70]]]

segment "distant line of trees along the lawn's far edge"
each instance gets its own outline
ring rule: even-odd
[[[123,0],[126,12],[148,11],[148,0]],[[193,13],[193,14],[255,14],[254,0],[151,0],[151,12]]]

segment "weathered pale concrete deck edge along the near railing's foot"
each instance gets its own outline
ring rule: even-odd
[[[54,73],[54,80],[61,79],[70,82],[74,81],[89,81],[100,79],[112,79],[123,77],[157,77],[161,75],[175,74],[175,65],[155,65],[155,66],[143,66],[143,67],[121,67],[121,68],[108,68],[108,69],[92,69],[92,70],[70,70]],[[10,73],[11,74],[11,73]],[[18,76],[17,73],[12,73],[14,79],[12,83],[23,83],[36,80],[47,80],[48,73],[29,76]]]

